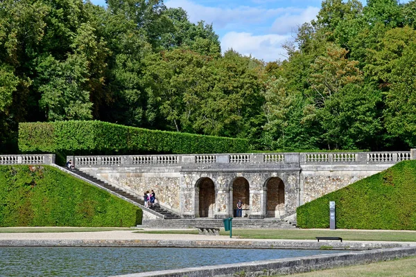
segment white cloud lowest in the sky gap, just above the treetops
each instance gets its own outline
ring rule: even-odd
[[[229,32],[221,39],[221,48],[223,51],[232,48],[242,55],[252,55],[252,57],[265,62],[271,62],[286,59],[286,50],[281,45],[288,39],[290,39],[288,35],[253,35],[252,33]]]

